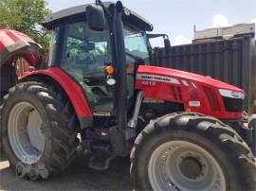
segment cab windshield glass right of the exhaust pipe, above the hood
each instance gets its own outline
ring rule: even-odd
[[[126,56],[132,57],[134,60],[143,60],[144,63],[149,64],[150,55],[145,33],[124,26],[123,35]]]

